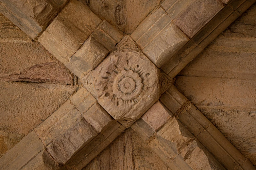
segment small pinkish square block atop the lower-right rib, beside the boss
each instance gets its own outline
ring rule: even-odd
[[[170,114],[169,110],[158,101],[141,118],[158,131],[171,118]]]

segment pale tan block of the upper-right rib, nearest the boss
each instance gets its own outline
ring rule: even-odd
[[[162,67],[189,38],[172,22],[152,39],[142,50],[152,63]]]

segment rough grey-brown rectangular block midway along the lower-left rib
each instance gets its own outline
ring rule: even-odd
[[[64,164],[97,135],[93,127],[84,118],[80,118],[76,124],[53,141],[47,147],[47,151],[55,161]]]

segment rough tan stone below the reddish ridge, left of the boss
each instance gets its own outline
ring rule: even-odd
[[[76,86],[1,82],[0,91],[0,132],[13,138],[27,135],[46,120],[76,91]]]

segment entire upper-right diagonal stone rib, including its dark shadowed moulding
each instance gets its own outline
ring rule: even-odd
[[[131,37],[174,78],[255,0],[165,0]]]

